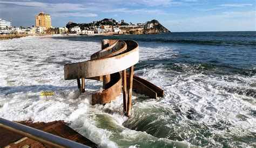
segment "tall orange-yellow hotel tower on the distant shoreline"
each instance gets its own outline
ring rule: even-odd
[[[49,29],[51,26],[51,16],[44,12],[39,12],[36,16],[36,27],[45,27]]]

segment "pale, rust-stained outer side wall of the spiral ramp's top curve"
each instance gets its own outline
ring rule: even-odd
[[[123,41],[120,42],[123,43]],[[138,44],[136,41],[130,41],[129,44],[132,44],[131,46],[134,48],[127,47],[123,54],[104,59],[94,59],[64,65],[65,80],[117,73],[135,65],[139,61]],[[112,48],[119,48],[119,50],[123,50],[123,48],[127,45],[128,44],[116,44],[116,46],[113,46]],[[117,50],[114,49],[108,51],[112,51],[113,53],[117,52]]]

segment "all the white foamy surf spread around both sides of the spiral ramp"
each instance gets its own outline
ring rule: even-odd
[[[64,80],[63,65],[88,60],[100,47],[100,43],[51,37],[0,40],[0,117],[12,121],[64,120],[103,147],[144,146],[146,142],[172,145],[173,141],[167,138],[157,138],[123,126],[129,120],[151,114],[157,119],[150,125],[165,121],[159,128],[166,126],[177,132],[176,136],[184,137],[181,145],[201,144],[193,138],[201,133],[191,124],[207,127],[212,134],[210,137],[199,136],[209,141],[206,146],[222,145],[214,136],[248,136],[250,132],[256,132],[255,96],[246,95],[248,90],[256,89],[255,76],[195,74],[186,64],[177,66],[187,73],[172,71],[161,64],[135,71],[163,88],[165,96],[157,101],[142,100],[145,96],[134,94],[132,110],[138,114],[132,114],[130,118],[123,115],[122,94],[111,103],[91,105],[91,94],[102,88],[102,82],[86,80],[86,92],[80,94],[75,80]],[[140,47],[140,62],[176,58],[177,55],[176,48]],[[39,96],[41,91],[49,90],[55,91],[56,95]],[[141,110],[143,112],[139,112]],[[169,114],[164,114],[166,112]],[[176,119],[172,121],[170,115],[175,115]],[[217,125],[223,129],[214,128]],[[239,145],[245,146],[244,143]],[[232,140],[228,146],[235,146]]]

